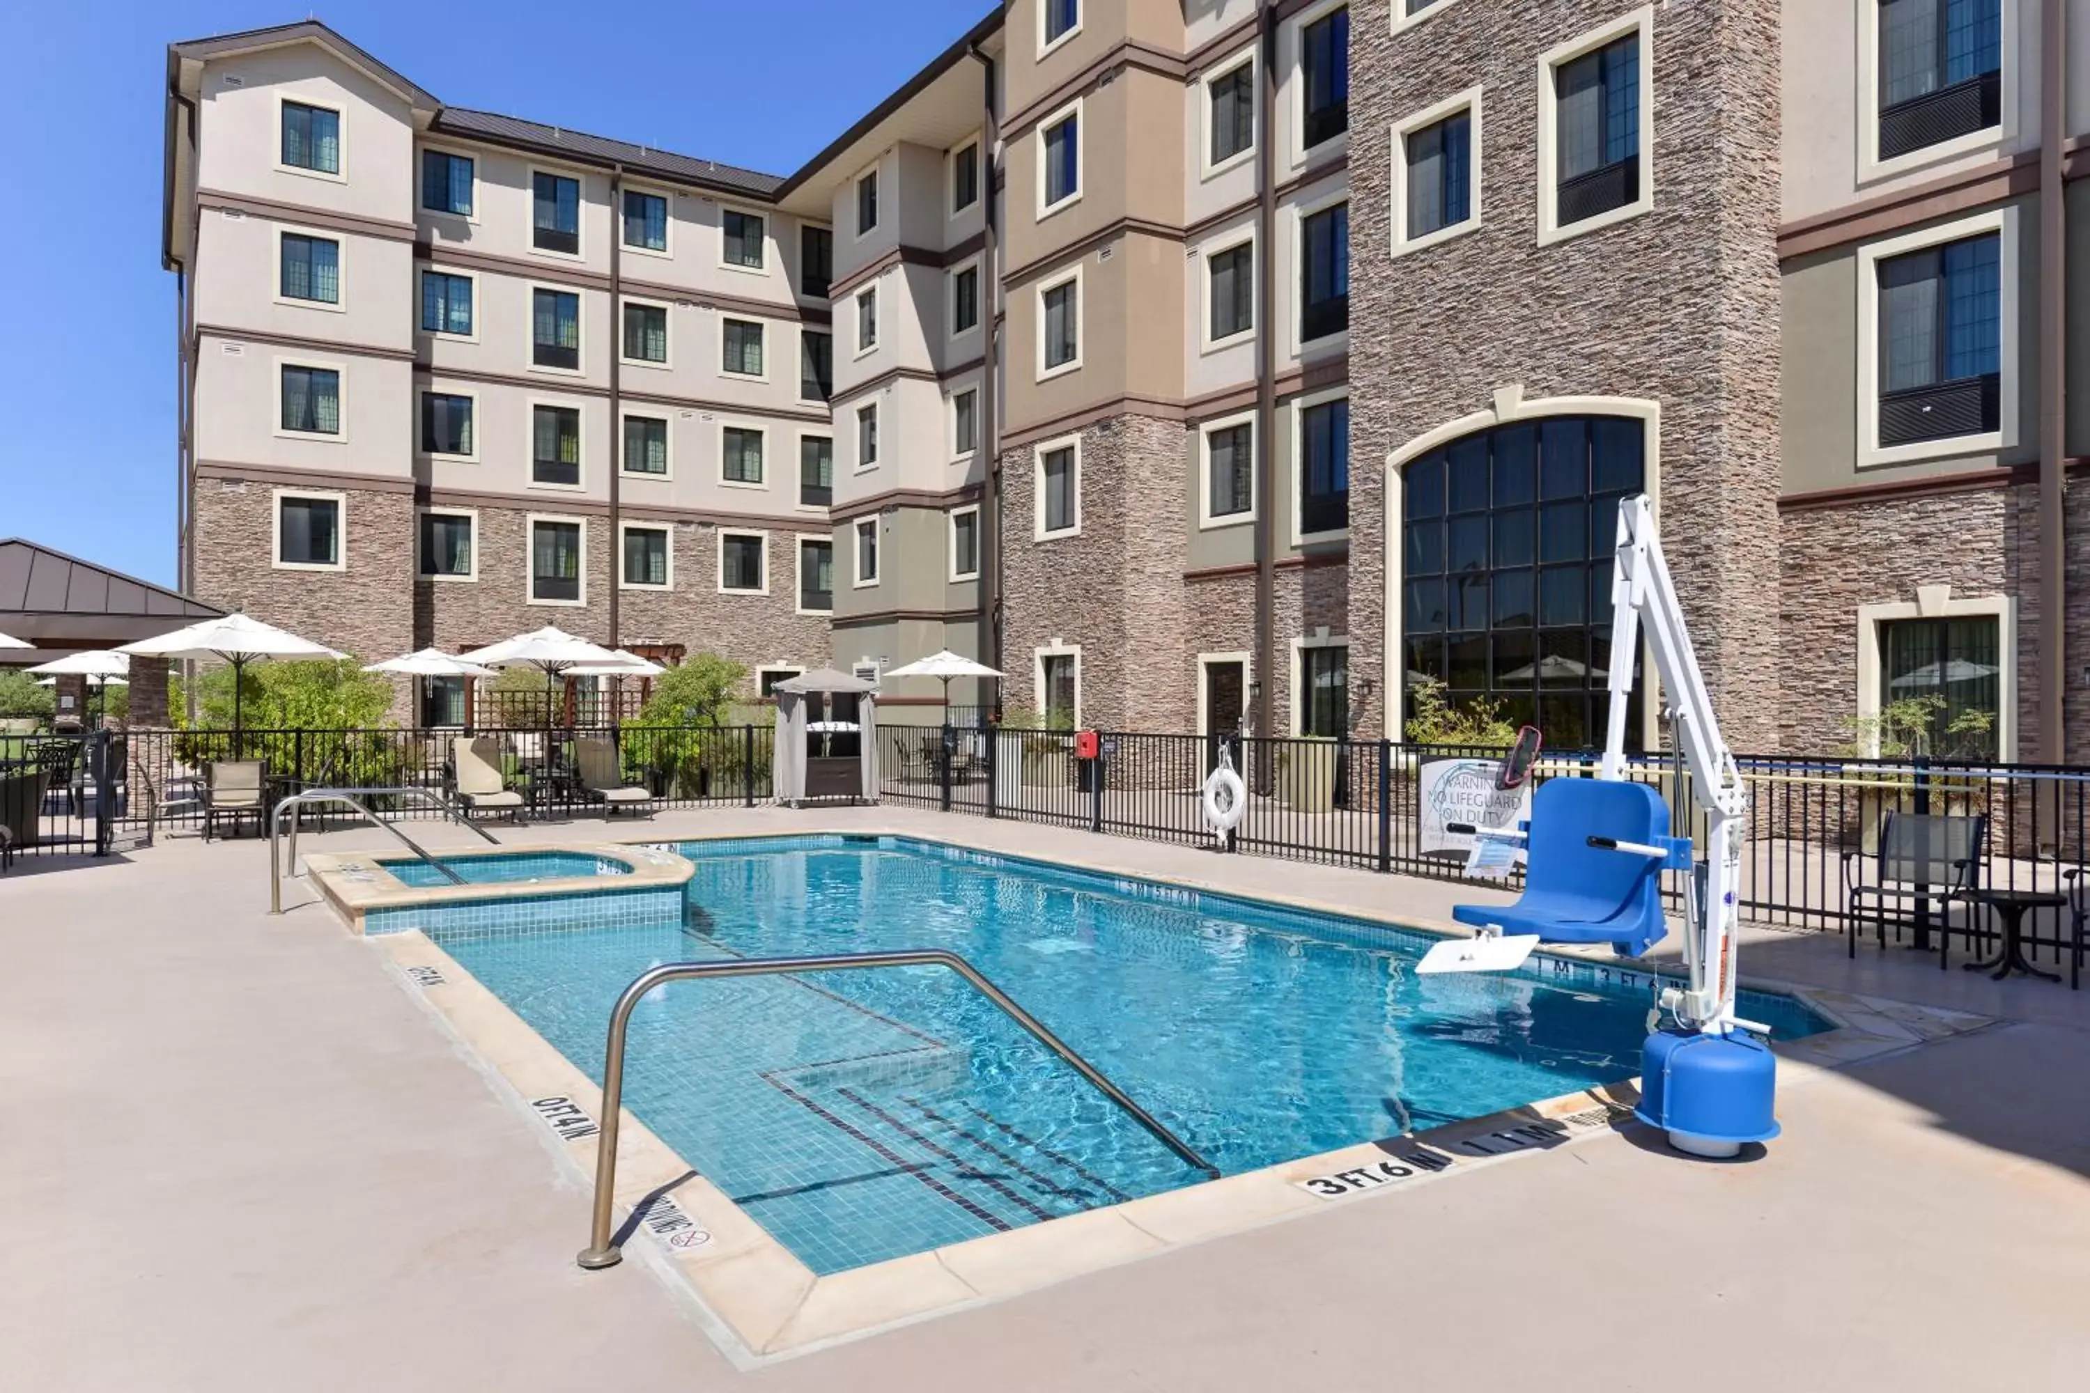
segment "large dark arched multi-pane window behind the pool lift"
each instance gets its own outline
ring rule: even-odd
[[[1407,687],[1434,677],[1455,706],[1492,698],[1555,750],[1601,743],[1618,501],[1645,476],[1645,424],[1616,416],[1496,426],[1413,459],[1400,526]],[[1632,750],[1639,700],[1634,683]]]

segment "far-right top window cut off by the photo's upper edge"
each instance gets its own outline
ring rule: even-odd
[[[1879,159],[2002,123],[2002,0],[1879,0]]]

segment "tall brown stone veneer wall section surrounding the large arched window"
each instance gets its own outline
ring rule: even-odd
[[[1662,407],[1651,478],[1705,681],[1731,743],[1766,748],[1779,733],[1779,6],[1655,6],[1653,211],[1538,246],[1538,56],[1630,8],[1490,0],[1398,36],[1384,15],[1350,31],[1352,685],[1386,670],[1392,449],[1486,409],[1505,384],[1526,399],[1643,397]],[[1388,259],[1390,129],[1476,84],[1482,228]],[[1361,733],[1381,731],[1381,704]]]

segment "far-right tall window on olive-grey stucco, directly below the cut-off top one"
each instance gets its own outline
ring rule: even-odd
[[[2002,428],[2002,234],[1875,263],[1879,445]]]

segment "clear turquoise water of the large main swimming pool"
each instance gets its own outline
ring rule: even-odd
[[[1430,936],[892,837],[675,850],[679,923],[426,927],[594,1078],[652,965],[949,948],[1227,1174],[1639,1071],[1645,975],[1417,977]],[[943,969],[669,984],[627,1059],[627,1107],[821,1274],[1204,1178]]]

